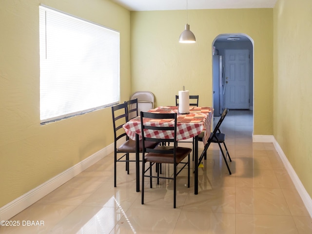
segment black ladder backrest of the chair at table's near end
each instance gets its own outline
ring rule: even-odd
[[[151,126],[150,124],[147,125],[144,120],[145,118],[149,119],[167,119],[168,121],[174,120],[174,126]],[[142,132],[142,142],[143,142],[143,154],[144,153],[156,153],[156,154],[172,154],[176,152],[176,113],[165,113],[165,114],[156,114],[156,113],[149,113],[149,112],[141,112],[140,113],[141,119],[141,132]],[[148,130],[165,132],[161,134],[161,136],[169,136],[170,138],[159,137],[155,134],[148,134]],[[146,148],[145,141],[153,141],[153,142],[174,142],[174,152],[173,150],[157,150],[156,148]]]

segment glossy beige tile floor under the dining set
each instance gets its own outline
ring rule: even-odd
[[[0,227],[0,233],[311,234],[312,219],[273,144],[252,142],[252,123],[250,111],[230,110],[221,129],[233,174],[212,145],[199,168],[198,195],[193,178],[187,188],[186,174],[180,176],[176,209],[166,180],[147,187],[141,205],[134,164],[126,175],[119,163],[114,188],[111,154],[11,219],[42,220],[44,226]]]

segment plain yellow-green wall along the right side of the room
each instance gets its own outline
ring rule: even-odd
[[[312,197],[312,1],[274,7],[273,133]]]

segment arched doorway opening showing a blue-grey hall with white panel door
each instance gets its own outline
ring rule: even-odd
[[[214,116],[224,108],[253,110],[253,39],[246,34],[220,34],[212,47]]]

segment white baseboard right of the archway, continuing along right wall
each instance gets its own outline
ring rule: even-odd
[[[303,186],[301,180],[297,176],[296,172],[292,168],[292,164],[289,162],[288,158],[284,154],[282,148],[279,146],[274,136],[263,136],[263,135],[253,135],[253,142],[263,142],[263,143],[273,143],[277,154],[280,156],[281,160],[284,163],[284,166],[292,179],[292,182],[298,191],[304,205],[306,206],[310,216],[312,217],[312,198],[308,194],[307,190]]]

